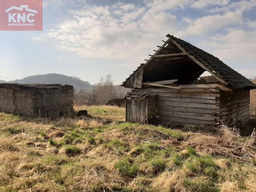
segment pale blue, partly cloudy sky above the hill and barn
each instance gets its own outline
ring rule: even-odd
[[[0,31],[0,79],[121,84],[168,33],[256,76],[256,0],[44,0],[43,31]]]

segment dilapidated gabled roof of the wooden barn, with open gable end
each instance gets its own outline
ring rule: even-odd
[[[204,71],[208,71],[221,84],[233,89],[255,89],[256,85],[228,67],[217,57],[186,41],[167,35],[168,40],[151,58],[141,64],[122,86],[142,88],[142,82],[177,79],[177,84],[192,84]]]

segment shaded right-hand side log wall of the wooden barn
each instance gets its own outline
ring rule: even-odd
[[[220,92],[220,120],[229,124],[244,123],[250,117],[250,91]]]

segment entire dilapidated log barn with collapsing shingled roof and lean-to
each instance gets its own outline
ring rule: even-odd
[[[126,121],[145,124],[229,124],[249,118],[250,90],[256,85],[213,55],[167,35],[122,86]],[[205,71],[211,76],[200,77]]]

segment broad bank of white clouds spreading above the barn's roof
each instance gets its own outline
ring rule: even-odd
[[[197,45],[221,59],[241,54],[255,57],[252,50],[255,50],[256,32],[242,29],[246,24],[251,28],[255,26],[252,21],[244,22],[244,11],[254,3],[248,2],[144,0],[145,6],[124,3],[86,5],[70,11],[71,17],[49,30],[44,38],[57,41],[59,50],[83,57],[123,59],[127,63],[146,59],[145,56],[152,54],[152,49],[161,45],[168,33],[180,38],[195,36]],[[225,10],[215,10],[200,18],[177,18],[173,12],[177,8],[193,6],[200,9],[208,5],[218,5]],[[220,34],[216,35],[217,32]]]

